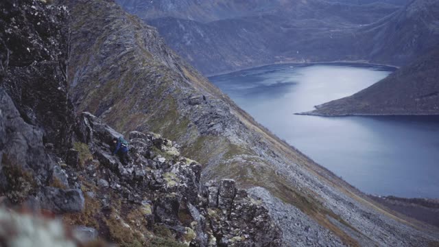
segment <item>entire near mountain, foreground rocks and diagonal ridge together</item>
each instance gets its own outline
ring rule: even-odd
[[[438,244],[257,124],[117,3],[0,10],[2,245]],[[121,136],[128,163],[112,155]]]

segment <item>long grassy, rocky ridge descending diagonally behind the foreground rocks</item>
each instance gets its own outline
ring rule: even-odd
[[[69,78],[79,110],[121,132],[154,130],[267,205],[283,246],[428,246],[438,236],[384,211],[259,126],[111,1],[64,1],[73,16]],[[103,32],[96,32],[103,30]],[[383,238],[385,235],[387,237]],[[317,236],[317,237],[316,237]]]

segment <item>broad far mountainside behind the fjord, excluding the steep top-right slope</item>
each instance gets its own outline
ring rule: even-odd
[[[181,1],[165,11],[170,5],[162,2],[146,6],[143,1],[119,0],[207,75],[274,62],[357,60],[352,41],[357,28],[399,9],[385,3],[260,0],[243,12],[242,1],[219,2]],[[200,5],[204,14],[192,14]],[[217,14],[223,12],[228,15]]]

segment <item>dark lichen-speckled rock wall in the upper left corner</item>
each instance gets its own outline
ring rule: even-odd
[[[1,84],[23,120],[43,128],[45,143],[54,143],[54,151],[64,153],[71,147],[76,123],[66,75],[67,10],[41,1],[12,2],[0,5],[0,43],[10,51]]]

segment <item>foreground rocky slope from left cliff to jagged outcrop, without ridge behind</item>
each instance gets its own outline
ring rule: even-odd
[[[0,10],[1,246],[281,245],[262,202],[234,180],[202,183],[202,165],[176,143],[131,132],[130,163],[111,155],[121,134],[77,116],[69,97],[65,6],[11,0]]]

